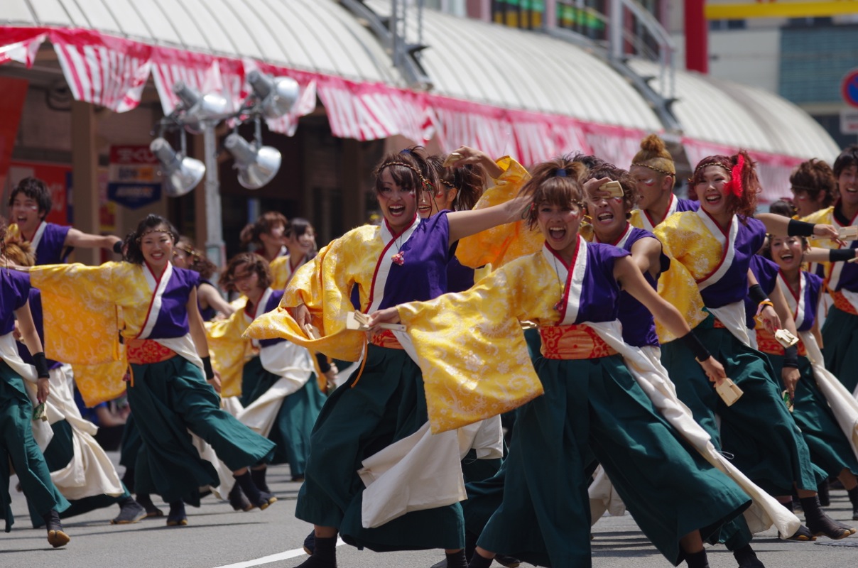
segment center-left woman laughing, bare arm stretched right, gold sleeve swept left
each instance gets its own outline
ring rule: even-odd
[[[419,148],[385,155],[376,169],[382,226],[353,229],[324,247],[293,276],[281,309],[257,318],[249,334],[281,336],[335,359],[358,360],[365,335],[344,329],[353,287],[363,311],[444,293],[450,245],[515,220],[521,205],[513,200],[497,208],[444,211],[423,220],[417,213],[420,192],[434,191],[437,184]],[[308,323],[318,329],[320,339],[308,339]],[[465,559],[458,503],[409,512],[377,528],[362,527],[363,482],[357,474],[343,472],[356,472],[364,458],[426,423],[420,369],[395,335],[375,336],[362,366],[329,396],[312,434],[295,514],[315,525],[316,538],[302,566],[335,566],[339,533],[350,544],[376,551],[444,548],[448,566],[459,568]]]

